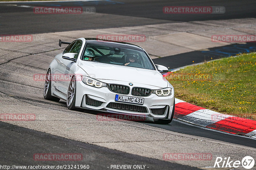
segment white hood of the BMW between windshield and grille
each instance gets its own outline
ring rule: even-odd
[[[127,81],[166,88],[168,81],[156,70],[114,64],[79,61],[81,67],[90,77],[101,80]]]

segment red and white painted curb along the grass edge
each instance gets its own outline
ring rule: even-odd
[[[236,135],[256,138],[256,121],[225,115],[175,98],[173,118]]]

